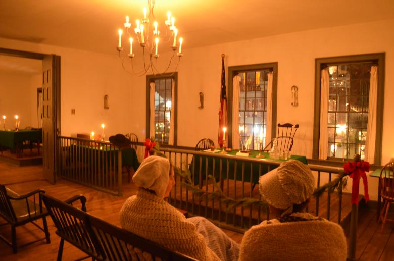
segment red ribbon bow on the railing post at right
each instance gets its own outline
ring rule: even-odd
[[[364,197],[365,201],[369,201],[368,195],[368,180],[366,171],[369,171],[369,162],[348,162],[343,164],[343,169],[345,173],[349,174],[349,177],[353,179],[352,182],[352,204],[359,204],[359,186],[360,186],[360,177],[363,179],[364,183]]]

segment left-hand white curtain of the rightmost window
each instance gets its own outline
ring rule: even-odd
[[[329,75],[328,69],[321,70],[320,87],[320,139],[319,139],[319,160],[327,160],[328,157],[328,91]]]

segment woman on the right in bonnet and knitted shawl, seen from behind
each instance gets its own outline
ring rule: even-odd
[[[239,260],[346,260],[346,238],[336,223],[305,212],[315,186],[307,165],[282,163],[259,179],[261,197],[277,218],[242,238]]]

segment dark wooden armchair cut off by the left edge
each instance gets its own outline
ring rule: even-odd
[[[14,254],[17,252],[17,240],[16,240],[16,227],[31,222],[33,225],[44,231],[46,243],[51,243],[50,233],[46,223],[46,216],[48,212],[45,207],[42,206],[42,195],[45,190],[37,189],[25,195],[19,195],[12,191],[6,186],[0,184],[0,217],[6,220],[6,225],[11,225],[11,242],[0,235],[0,239],[6,242],[12,247]],[[42,219],[43,228],[36,222],[38,219]],[[40,241],[42,239],[29,242],[25,245],[29,245]],[[22,245],[22,246],[25,246]]]

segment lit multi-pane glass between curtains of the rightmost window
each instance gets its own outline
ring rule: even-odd
[[[328,157],[364,159],[371,63],[328,65]]]

